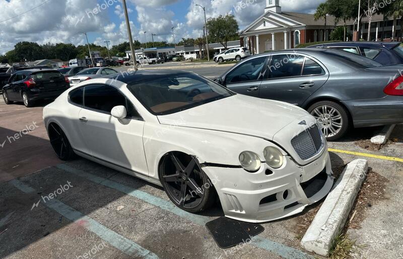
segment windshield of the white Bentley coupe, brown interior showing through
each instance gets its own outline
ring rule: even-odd
[[[153,114],[166,115],[234,95],[191,73],[161,75],[129,83],[127,88]]]

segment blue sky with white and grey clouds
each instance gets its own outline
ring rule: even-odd
[[[280,0],[286,12],[313,13],[325,0]],[[266,0],[126,0],[133,39],[175,42],[203,36],[207,19],[233,14],[239,29],[263,14]],[[243,4],[242,4],[243,3]],[[240,8],[244,6],[244,8]],[[96,9],[96,11],[94,11]],[[146,34],[144,33],[146,31]],[[106,46],[127,41],[121,0],[0,0],[0,54],[20,41]]]

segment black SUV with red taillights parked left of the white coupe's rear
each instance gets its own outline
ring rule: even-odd
[[[70,87],[69,80],[53,69],[31,69],[14,73],[3,87],[6,104],[23,102],[32,107],[35,101],[54,99]]]

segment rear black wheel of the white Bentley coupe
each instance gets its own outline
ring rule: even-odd
[[[75,158],[76,154],[74,153],[69,140],[56,123],[49,124],[48,135],[50,145],[52,146],[54,153],[56,153],[56,156],[59,159],[63,161],[68,161]]]

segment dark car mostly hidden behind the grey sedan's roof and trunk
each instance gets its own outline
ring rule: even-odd
[[[383,65],[403,64],[401,42],[335,42],[309,46],[309,48],[334,48],[362,55]]]

